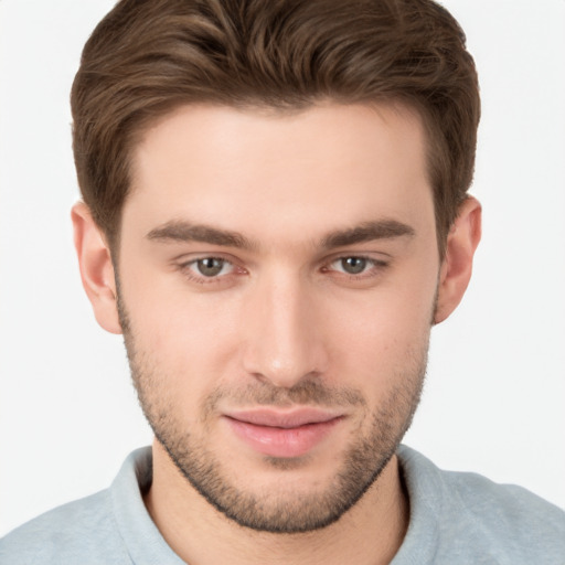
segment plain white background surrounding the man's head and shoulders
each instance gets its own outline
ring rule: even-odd
[[[0,535],[150,441],[81,288],[68,92],[111,0],[0,0]],[[483,96],[475,278],[434,330],[406,443],[565,507],[565,1],[446,0]]]

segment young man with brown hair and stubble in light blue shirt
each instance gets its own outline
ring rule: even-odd
[[[559,563],[556,508],[399,447],[480,238],[477,90],[430,2],[119,3],[73,222],[157,439],[0,555]]]

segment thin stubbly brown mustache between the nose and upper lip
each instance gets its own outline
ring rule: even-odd
[[[365,406],[365,397],[356,388],[333,387],[319,380],[305,380],[290,388],[257,381],[244,387],[218,387],[204,402],[204,412],[214,412],[223,402],[231,407],[269,406],[287,408],[294,405],[313,405],[327,408]]]

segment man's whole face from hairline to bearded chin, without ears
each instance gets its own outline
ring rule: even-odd
[[[439,273],[424,148],[406,109],[328,104],[184,107],[136,149],[134,381],[171,461],[239,524],[328,525],[409,425]]]

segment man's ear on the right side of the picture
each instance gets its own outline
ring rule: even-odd
[[[461,301],[472,271],[472,258],[481,239],[481,205],[468,196],[447,236],[446,256],[439,270],[434,323],[440,323]]]

